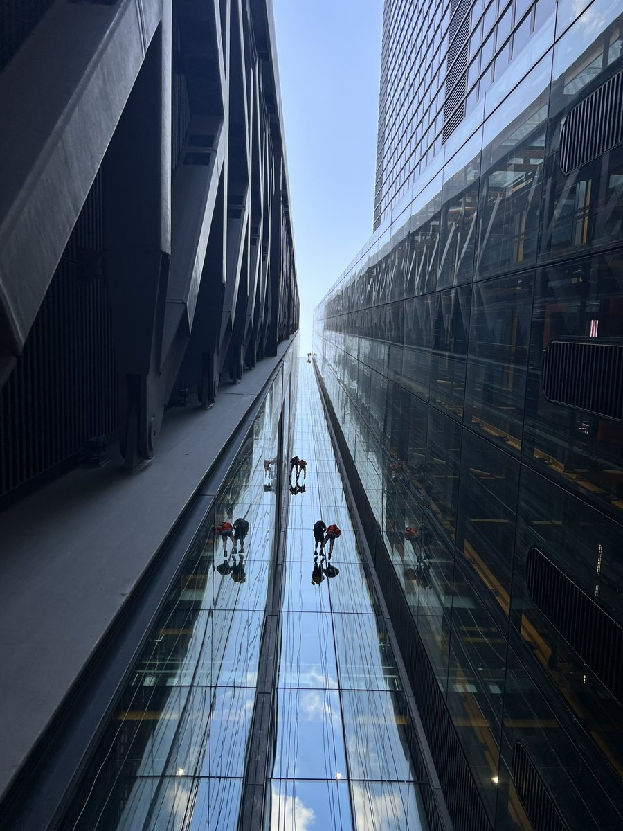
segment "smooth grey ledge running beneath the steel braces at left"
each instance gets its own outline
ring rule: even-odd
[[[219,391],[173,410],[155,459],[80,468],[0,514],[0,796],[296,335]]]

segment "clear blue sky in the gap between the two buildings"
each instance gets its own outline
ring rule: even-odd
[[[272,0],[301,293],[312,312],[372,234],[382,0]]]

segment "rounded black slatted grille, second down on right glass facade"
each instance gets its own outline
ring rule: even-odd
[[[542,389],[548,401],[623,419],[623,345],[592,339],[548,343]]]

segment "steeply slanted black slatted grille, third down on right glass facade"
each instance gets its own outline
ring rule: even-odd
[[[538,548],[528,554],[526,583],[535,606],[604,686],[623,701],[623,628]]]

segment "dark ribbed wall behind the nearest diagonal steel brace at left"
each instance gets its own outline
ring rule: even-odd
[[[0,504],[56,475],[116,429],[101,174],[86,198],[24,352],[0,391]]]

